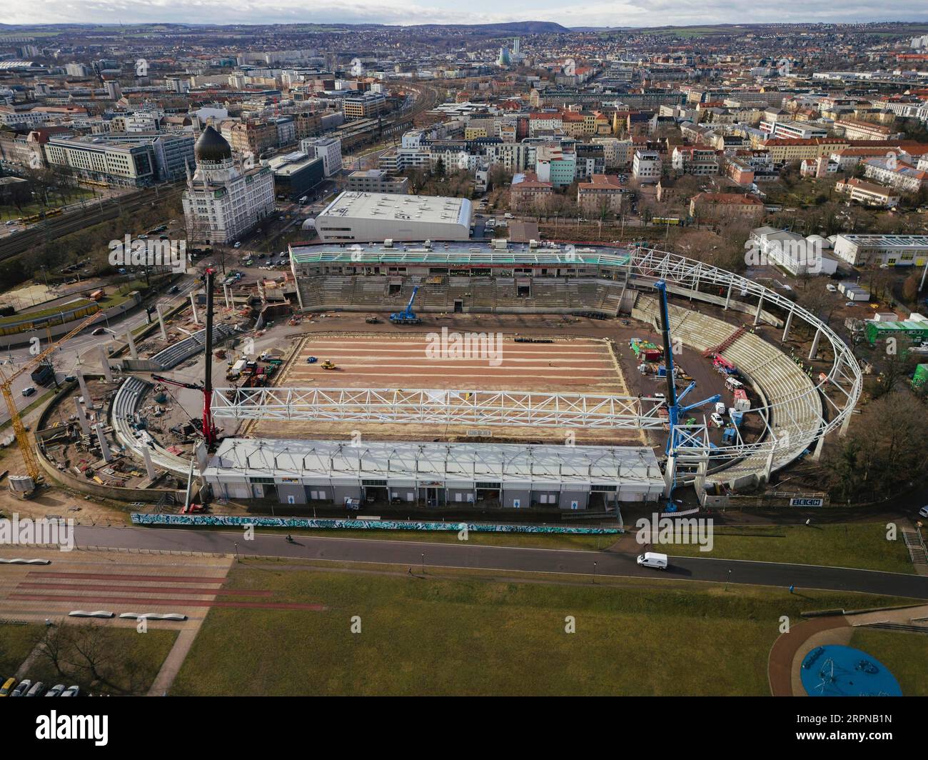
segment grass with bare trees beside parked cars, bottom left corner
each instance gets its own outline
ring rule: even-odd
[[[175,631],[154,630],[145,634],[135,628],[117,628],[109,624],[68,623],[55,629],[61,636],[60,667],[58,672],[48,658],[38,656],[29,668],[26,678],[42,681],[46,687],[63,683],[76,684],[83,691],[116,695],[144,695],[154,681],[161,663],[174,646]],[[46,633],[44,625],[0,625],[0,663],[6,664],[0,675],[13,675],[19,664],[34,649],[35,642]],[[83,636],[77,646],[91,652],[96,659],[97,680],[90,674],[85,661],[74,646],[71,636]],[[10,654],[6,656],[5,651]],[[7,660],[9,661],[7,664]]]

